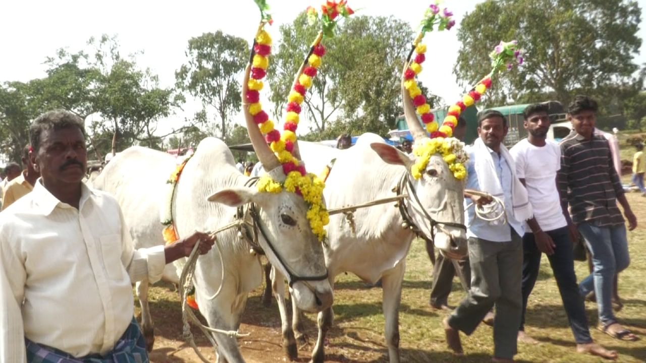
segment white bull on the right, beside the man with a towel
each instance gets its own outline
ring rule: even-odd
[[[416,142],[423,141],[426,134],[412,110],[410,98],[406,92],[402,93],[409,128]],[[384,140],[375,134],[360,136],[357,144],[347,150],[325,149],[320,145],[300,142],[300,154],[308,167],[320,167],[331,158],[337,158],[324,190],[329,209],[393,197],[399,185],[402,186],[401,194],[408,194],[408,198],[403,201],[404,213],[391,202],[358,209],[354,213],[353,226],[344,214],[331,216],[326,229],[329,236],[328,245],[324,248],[332,285],[335,276],[345,271],[371,283],[382,279],[382,307],[386,321],[388,355],[391,363],[399,362],[399,304],[402,280],[406,254],[416,235],[408,223],[412,222],[426,238],[433,238],[435,245],[441,247],[444,253],[464,254],[464,183],[455,179],[446,162],[438,154],[430,158],[422,178],[415,180],[411,174],[415,157],[386,145]],[[405,220],[404,214],[408,214],[407,219],[410,219]],[[432,222],[429,217],[440,223]],[[273,271],[273,275],[279,274]],[[296,333],[300,339],[304,337],[300,326],[300,313],[294,306],[290,327],[284,313],[283,279],[279,277],[273,280],[272,288],[281,313],[283,335],[289,337]],[[318,339],[312,353],[313,362],[324,361],[323,343],[332,319],[331,307],[318,314]]]

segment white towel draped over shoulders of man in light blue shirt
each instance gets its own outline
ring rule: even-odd
[[[503,187],[500,185],[495,172],[494,159],[491,157],[489,148],[485,143],[477,138],[474,141],[475,161],[474,169],[478,179],[478,185],[481,191],[488,192],[498,198],[504,199]],[[532,205],[529,203],[527,191],[523,183],[516,177],[516,167],[514,159],[509,154],[505,145],[500,145],[500,155],[505,159],[509,169],[512,172],[512,208],[514,218],[518,222],[525,222],[534,216]],[[508,206],[507,206],[508,207]]]

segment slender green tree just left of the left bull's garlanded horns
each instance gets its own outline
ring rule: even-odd
[[[249,45],[240,37],[215,33],[189,39],[188,63],[175,72],[176,87],[211,106],[220,118],[220,135],[227,138],[231,116],[240,110],[238,78],[247,65]]]

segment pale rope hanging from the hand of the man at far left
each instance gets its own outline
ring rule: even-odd
[[[216,235],[222,231],[225,231],[227,229],[231,229],[233,227],[240,227],[244,225],[245,223],[248,224],[248,222],[245,222],[244,220],[236,220],[236,222],[229,223],[225,225],[224,227],[220,227],[216,229],[216,231],[212,231],[209,233],[210,236],[216,239]],[[222,280],[220,280],[220,287],[218,287],[218,290],[214,293],[213,296],[209,297],[208,300],[213,300],[216,298],[218,295],[220,295],[220,291],[222,291],[222,286],[224,285],[224,260],[222,258],[222,251],[220,250],[220,244],[218,244],[218,241],[216,239],[215,242],[216,249],[218,250],[218,254],[220,255],[220,265],[222,266]],[[214,329],[209,326],[205,326],[198,320],[197,316],[193,313],[193,309],[188,306],[187,304],[187,296],[188,292],[191,290],[191,287],[193,285],[193,275],[195,272],[195,266],[197,264],[198,256],[200,255],[198,253],[198,248],[200,247],[200,241],[198,241],[194,246],[193,246],[193,251],[191,251],[191,254],[189,254],[189,257],[187,258],[186,264],[184,265],[182,269],[182,275],[180,276],[180,296],[182,296],[182,324],[183,324],[183,338],[186,342],[188,342],[191,347],[193,347],[193,350],[195,353],[200,357],[202,362],[209,363],[209,361],[204,358],[202,353],[198,350],[198,347],[195,344],[195,340],[193,337],[193,333],[191,333],[191,326],[189,322],[191,322],[193,325],[197,326],[200,328],[202,333],[209,339],[209,342],[211,342],[211,345],[213,346],[213,349],[216,353],[218,354],[218,344],[215,342],[214,338],[209,334],[211,333],[218,333],[218,334],[224,334],[227,335],[229,338],[239,338],[239,337],[249,337],[249,333],[242,334],[239,333],[237,330],[222,330],[222,329]]]

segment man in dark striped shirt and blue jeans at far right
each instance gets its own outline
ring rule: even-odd
[[[630,263],[625,222],[617,201],[623,207],[631,231],[637,227],[637,218],[614,169],[608,141],[594,135],[597,109],[596,101],[587,96],[576,96],[570,103],[567,118],[574,131],[561,141],[557,186],[572,240],[578,229],[592,254],[594,272],[581,281],[579,290],[583,296],[594,291],[599,330],[613,338],[637,340],[636,335],[617,322],[612,312],[613,278]]]

